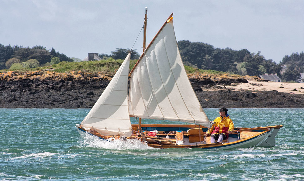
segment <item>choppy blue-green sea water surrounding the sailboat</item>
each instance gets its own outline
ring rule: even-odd
[[[283,128],[271,148],[213,151],[83,139],[75,124],[88,112],[0,109],[0,180],[304,180],[304,108],[229,109],[236,127]]]

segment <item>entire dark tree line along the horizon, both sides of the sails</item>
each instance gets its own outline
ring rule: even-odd
[[[231,48],[215,48],[212,45],[202,42],[190,42],[182,40],[178,42],[180,55],[184,64],[203,70],[215,70],[228,72],[231,74],[259,76],[262,74],[277,74],[283,81],[296,81],[300,79],[300,72],[304,70],[304,52],[292,53],[282,58],[280,63],[271,59],[266,60],[260,52],[251,53],[247,49],[232,50]],[[136,50],[116,48],[110,55],[101,53],[99,57],[106,60],[124,59],[131,51],[131,59],[138,59],[139,53]],[[54,48],[46,50],[43,46],[33,48],[4,46],[0,44],[0,69],[15,66],[34,68],[37,66],[47,66],[61,61],[73,61],[66,55],[56,52]],[[281,74],[282,65],[286,69]]]

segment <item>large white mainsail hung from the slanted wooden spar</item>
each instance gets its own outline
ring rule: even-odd
[[[138,62],[131,74],[130,115],[210,127],[181,60],[173,21],[165,23]]]

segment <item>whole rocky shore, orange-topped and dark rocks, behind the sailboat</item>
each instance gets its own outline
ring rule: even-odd
[[[191,74],[188,77],[203,108],[304,107],[302,84],[281,92],[279,87],[261,89],[267,81],[257,76]],[[0,73],[0,108],[92,108],[111,78],[111,75],[85,71]],[[254,88],[237,89],[240,85]]]

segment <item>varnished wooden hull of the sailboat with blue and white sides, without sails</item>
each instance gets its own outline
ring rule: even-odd
[[[132,126],[136,127],[137,125]],[[160,133],[157,134],[157,137],[150,137],[146,135],[138,137],[137,134],[134,132],[134,134],[131,137],[128,137],[127,139],[140,139],[144,144],[148,144],[148,146],[154,148],[236,149],[249,148],[254,146],[271,147],[275,145],[274,138],[279,129],[282,127],[282,125],[257,128],[236,128],[235,130],[239,130],[235,131],[235,134],[230,134],[230,137],[227,140],[223,140],[222,143],[213,144],[210,143],[210,137],[209,139],[208,137],[204,137],[207,128],[200,126],[203,132],[200,133],[201,135],[196,135],[201,137],[200,141],[190,143],[189,136],[191,135],[187,135],[185,132],[189,129],[198,127],[198,125],[141,125],[141,128],[143,130],[146,130],[146,132],[155,130],[155,128],[157,128]],[[97,132],[94,132],[94,130],[84,130],[79,126],[77,127],[77,130],[82,137],[85,137],[89,134],[92,136],[97,136],[98,138],[104,140],[113,137],[115,139],[119,139],[119,136],[104,136],[100,135]],[[173,134],[168,134],[168,131],[170,130],[181,131],[182,133],[185,133],[185,135],[183,136],[184,144],[178,145],[176,140],[176,134],[174,134],[174,132]],[[166,139],[165,135],[170,135],[171,138]],[[172,138],[172,135],[174,135],[175,138]]]

